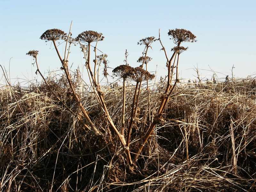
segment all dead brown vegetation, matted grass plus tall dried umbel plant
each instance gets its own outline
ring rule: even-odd
[[[180,45],[196,36],[176,28],[168,32],[171,57],[159,30],[158,39],[138,42],[139,67],[129,66],[126,50],[125,65],[113,70],[122,82],[103,85],[108,60],[97,45],[104,36],[88,30],[72,38],[71,26],[40,37],[54,45],[60,79],[43,76],[36,50],[27,55],[43,83],[12,86],[2,68],[8,84],[0,91],[2,191],[255,190],[254,78],[202,82],[197,69],[199,83],[181,83],[179,59],[188,47]],[[156,41],[168,72],[152,83],[148,54]],[[80,46],[90,85],[79,69],[69,69],[72,44]]]

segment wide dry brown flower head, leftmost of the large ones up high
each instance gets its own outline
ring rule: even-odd
[[[56,41],[61,39],[66,39],[67,33],[60,29],[48,29],[40,37],[42,40],[46,41]]]

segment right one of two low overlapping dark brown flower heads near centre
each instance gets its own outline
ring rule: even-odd
[[[136,67],[132,69],[132,75],[129,78],[138,83],[146,80],[151,80],[154,77],[154,74],[150,74],[148,71],[140,67]]]

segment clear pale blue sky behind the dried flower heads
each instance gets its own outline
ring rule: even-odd
[[[214,70],[219,77],[234,74],[246,77],[256,73],[256,1],[5,1],[0,0],[0,63],[11,78],[36,78],[33,60],[26,56],[31,49],[39,51],[41,71],[60,69],[53,45],[39,37],[45,30],[60,28],[68,32],[73,20],[72,33],[85,30],[103,33],[104,41],[98,48],[108,54],[109,67],[124,64],[125,49],[131,66],[143,47],[137,42],[147,36],[161,39],[171,55],[174,46],[167,36],[169,29],[184,28],[197,36],[196,43],[186,43],[188,51],[180,57],[180,76],[193,78],[193,66],[202,76],[210,77]],[[166,73],[164,52],[159,42],[152,44],[148,56],[153,60],[149,70],[157,75]],[[63,52],[64,48],[60,48]],[[79,46],[72,47],[69,63],[76,69],[84,63]],[[109,69],[109,73],[112,70]],[[84,73],[84,76],[86,73]],[[0,71],[0,78],[2,71]],[[40,79],[38,77],[38,79]],[[21,80],[20,80],[21,81]]]

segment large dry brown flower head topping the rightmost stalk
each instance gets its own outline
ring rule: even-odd
[[[196,36],[186,29],[169,29],[168,35],[174,43],[196,42]]]

